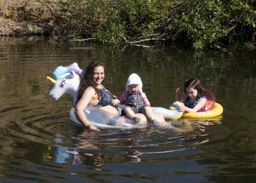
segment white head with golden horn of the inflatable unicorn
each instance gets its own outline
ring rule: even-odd
[[[80,84],[80,77],[76,72],[72,70],[72,72],[62,74],[57,81],[49,76],[47,76],[47,79],[54,84],[51,92],[49,93],[52,99],[58,100],[65,93],[70,93],[73,96],[74,104],[76,103]]]

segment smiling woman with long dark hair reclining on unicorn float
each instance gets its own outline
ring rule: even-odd
[[[75,106],[75,115],[77,120],[83,123],[88,129],[97,130],[97,127],[91,125],[84,115],[84,109],[87,105],[99,107],[114,115],[121,115],[122,112],[120,105],[113,106],[111,104],[112,100],[116,99],[116,97],[102,86],[104,76],[104,64],[100,61],[93,61],[86,68],[86,73],[80,84]],[[164,122],[163,115],[157,113],[154,113],[154,115],[157,118],[157,122],[160,124]],[[141,118],[140,123],[147,122],[145,115],[139,113],[136,114],[136,116]]]

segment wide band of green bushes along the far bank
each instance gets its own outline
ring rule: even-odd
[[[46,0],[45,0],[46,1]],[[54,35],[119,44],[186,40],[195,49],[255,46],[256,3],[241,0],[59,0]]]

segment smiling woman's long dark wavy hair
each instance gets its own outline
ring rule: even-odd
[[[98,95],[98,99],[100,100],[99,89],[96,87],[97,83],[93,79],[94,68],[95,67],[100,67],[100,66],[104,67],[104,63],[102,63],[100,61],[92,61],[87,66],[86,71],[84,73],[83,80],[81,81],[80,86],[79,86],[80,88],[79,88],[78,94],[77,94],[77,102],[81,99],[81,97],[84,93],[84,90],[86,90],[86,88],[88,86],[92,86],[92,88],[94,88],[95,92]]]

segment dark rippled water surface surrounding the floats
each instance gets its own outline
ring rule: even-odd
[[[0,38],[0,182],[255,182],[256,53],[195,52],[179,47],[112,48]],[[198,77],[223,115],[180,119],[177,129],[87,131],[69,118],[71,95],[49,97],[54,68],[106,65],[104,86],[124,92],[136,72],[152,106]]]

